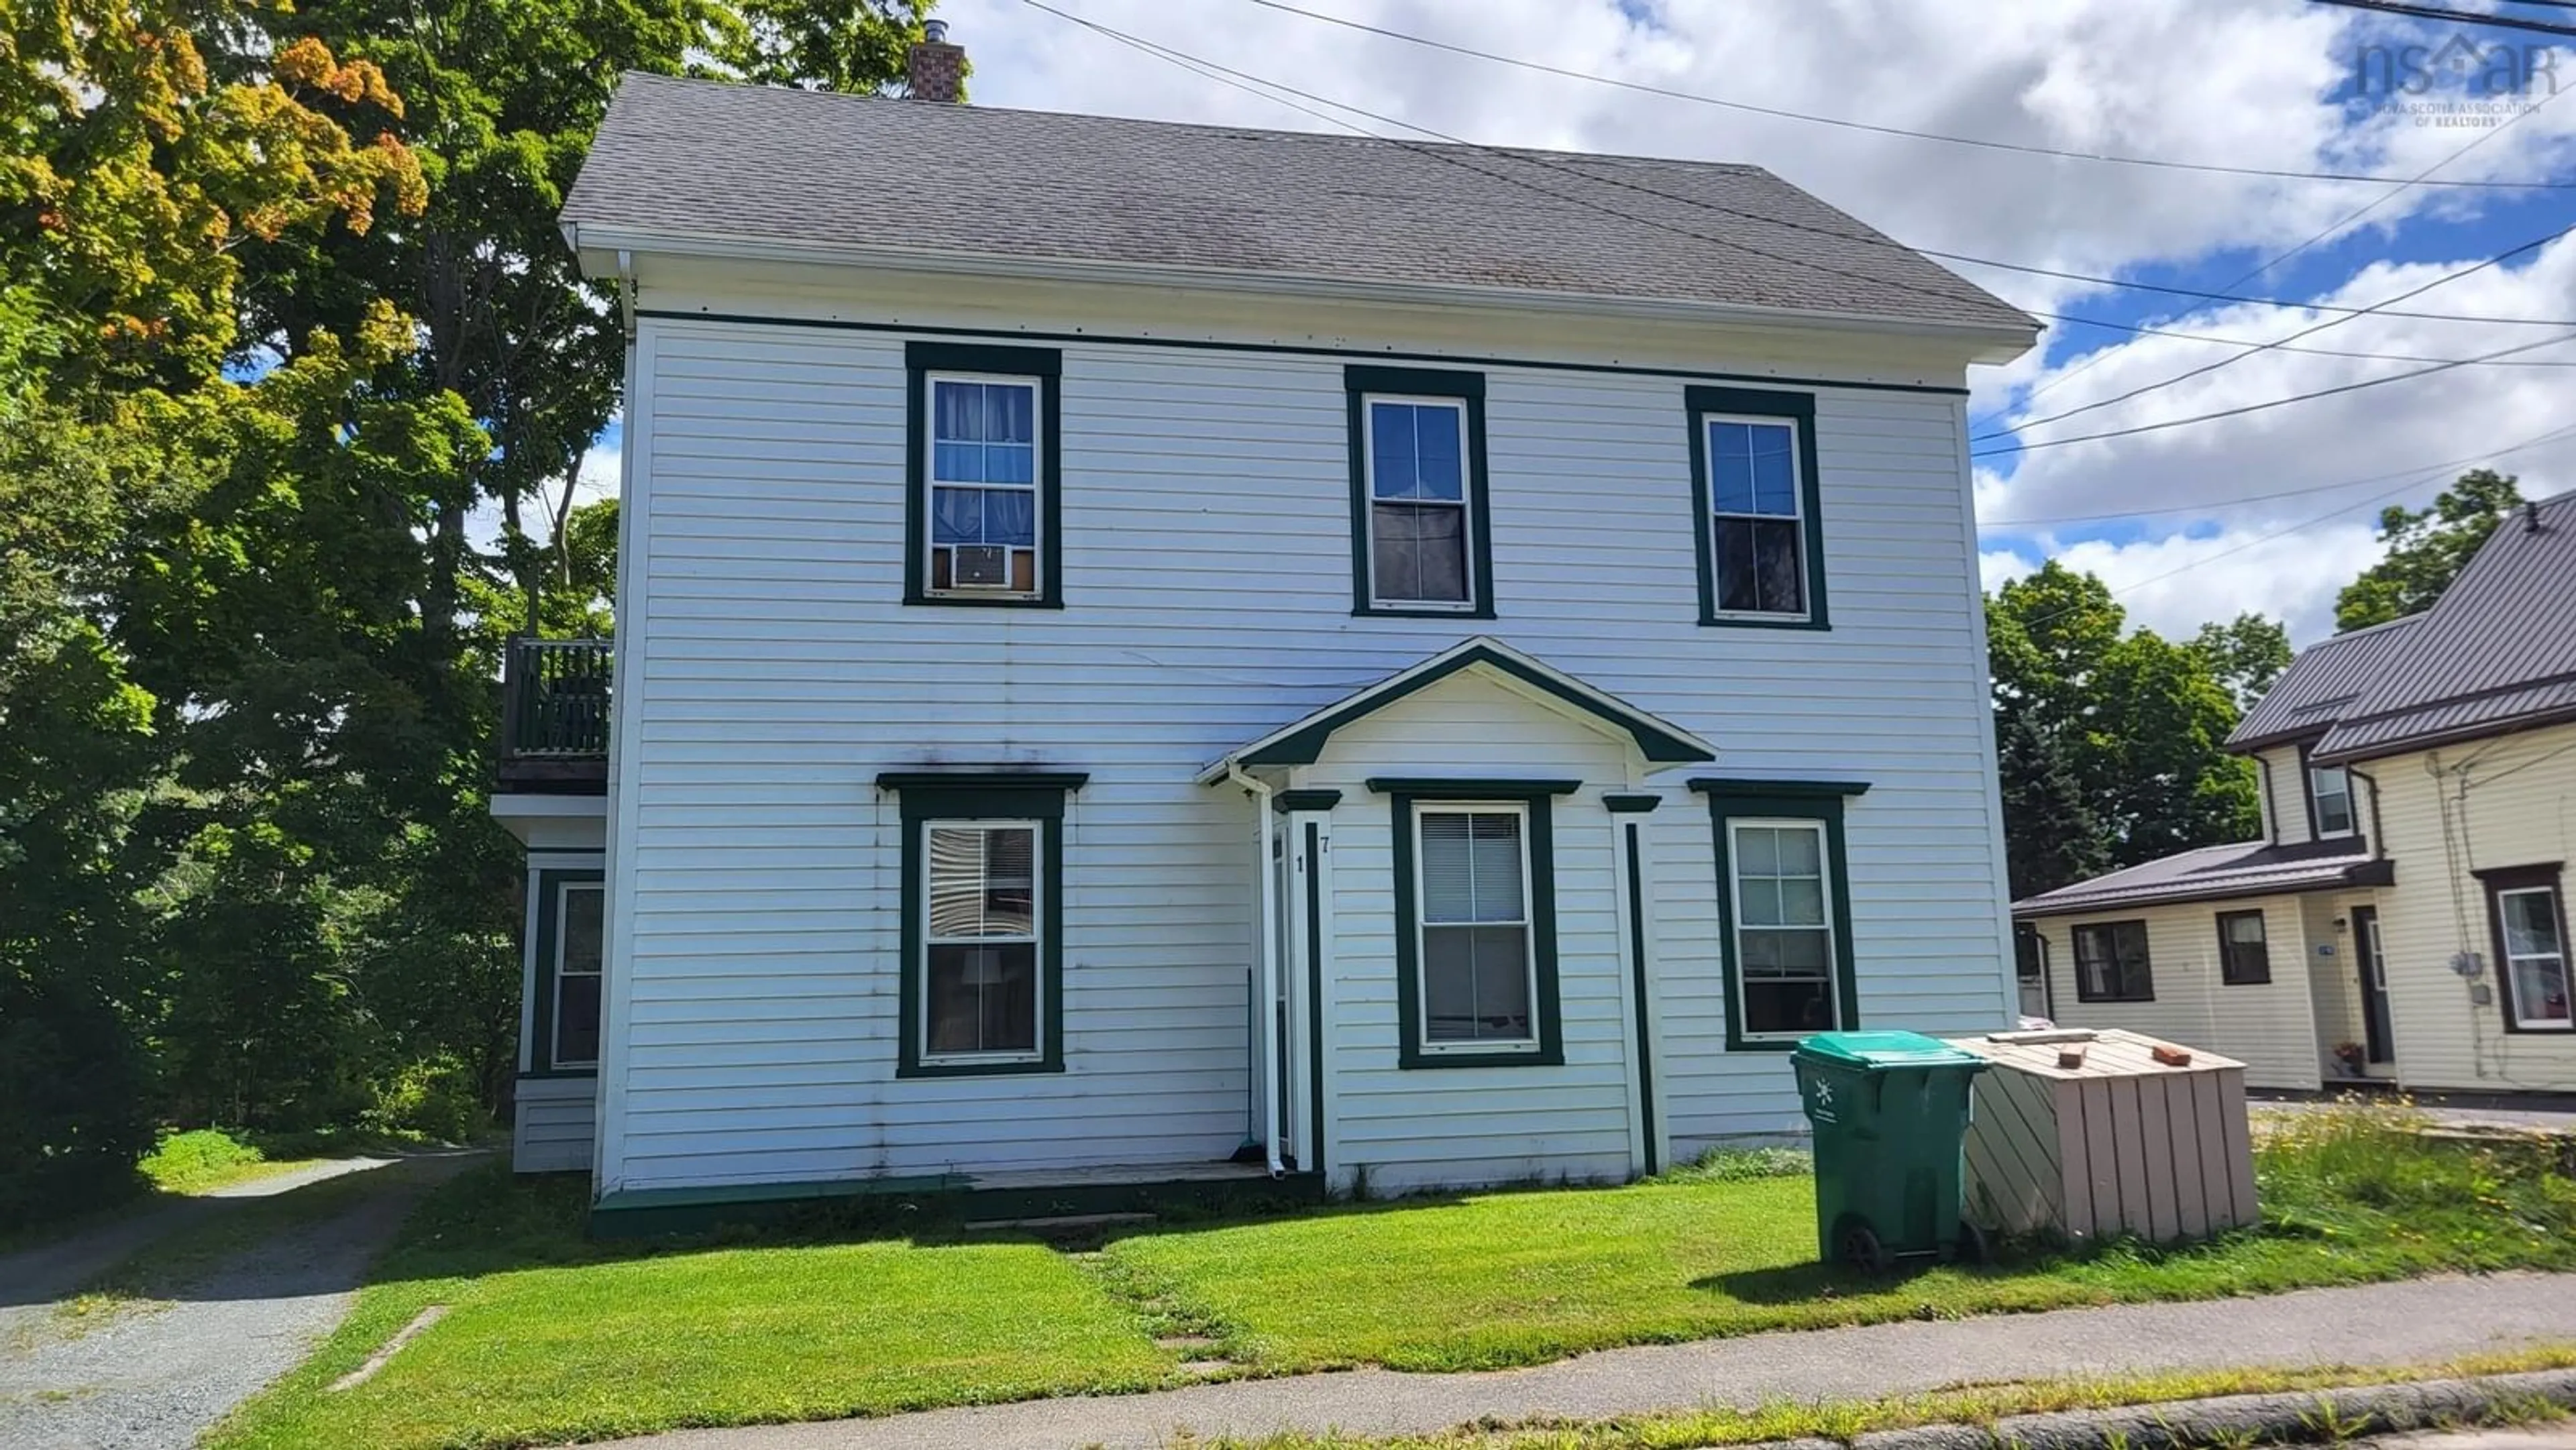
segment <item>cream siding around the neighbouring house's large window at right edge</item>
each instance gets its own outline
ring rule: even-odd
[[[2473,873],[2576,860],[2576,726],[2393,755],[2360,770],[2380,783],[2396,860],[2396,886],[2375,896],[2398,1082],[2576,1089],[2576,1033],[2509,1033],[2501,999],[2473,999],[2476,986],[2496,994],[2486,886]],[[2568,881],[2576,876],[2561,876],[2561,904]],[[2476,981],[2450,968],[2463,950],[2483,963]]]

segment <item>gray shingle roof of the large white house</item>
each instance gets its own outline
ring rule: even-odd
[[[2030,330],[1762,167],[626,75],[574,227]]]

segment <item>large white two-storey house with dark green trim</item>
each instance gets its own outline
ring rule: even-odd
[[[925,90],[631,75],[564,203],[623,541],[613,680],[513,659],[520,1167],[1620,1180],[2009,1020],[2027,317],[1754,167]]]

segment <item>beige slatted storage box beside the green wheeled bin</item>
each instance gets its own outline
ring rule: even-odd
[[[2246,1069],[2123,1030],[1994,1033],[1968,1123],[1968,1218],[2074,1241],[2208,1239],[2254,1223]],[[2187,1066],[2156,1048],[2190,1053]],[[2061,1066],[2069,1053],[2081,1064]]]

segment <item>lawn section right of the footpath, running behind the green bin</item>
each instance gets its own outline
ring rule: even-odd
[[[2576,1270],[2576,1182],[2540,1149],[2424,1144],[2367,1110],[2313,1113],[2262,1146],[2259,1174],[2262,1231],[1893,1280],[1814,1262],[1814,1180],[1726,1172],[1340,1208],[1108,1252],[1226,1326],[1231,1357],[1273,1370],[1492,1370],[1762,1329]]]

